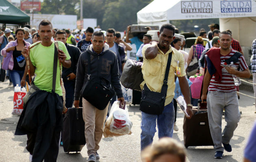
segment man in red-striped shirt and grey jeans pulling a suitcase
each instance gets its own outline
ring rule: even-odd
[[[220,49],[213,47],[206,53],[207,70],[204,75],[201,99],[205,102],[204,100],[207,98],[210,133],[216,151],[214,157],[220,159],[224,149],[228,152],[232,151],[229,143],[240,119],[238,98],[232,75],[249,78],[251,74],[243,55],[230,48],[232,43],[230,32],[221,32],[218,42]],[[233,65],[227,64],[230,60],[232,60]],[[225,67],[221,66],[223,63],[226,64]],[[239,70],[231,66],[235,66]],[[224,107],[227,124],[221,132]]]

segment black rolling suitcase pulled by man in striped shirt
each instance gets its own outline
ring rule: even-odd
[[[198,102],[201,102],[201,100],[198,100]],[[213,146],[205,104],[198,103],[198,108],[193,109],[191,119],[184,117],[183,136],[186,148],[189,146]]]

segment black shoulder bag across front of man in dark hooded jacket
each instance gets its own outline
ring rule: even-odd
[[[82,97],[90,102],[94,107],[99,110],[104,110],[108,102],[114,96],[115,91],[111,87],[111,83],[104,78],[93,77],[91,78],[91,54],[87,52],[88,58],[88,81],[82,88]]]

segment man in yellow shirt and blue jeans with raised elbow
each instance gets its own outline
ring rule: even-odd
[[[168,89],[165,99],[165,107],[161,115],[152,115],[141,112],[141,150],[153,142],[156,132],[156,119],[158,127],[158,137],[172,137],[174,130],[174,72],[176,67],[180,67],[180,74],[177,75],[180,83],[181,92],[187,103],[187,113],[189,119],[192,117],[192,105],[190,104],[189,84],[185,77],[184,59],[182,54],[171,47],[171,42],[175,39],[175,28],[169,23],[164,24],[158,32],[158,43],[152,42],[145,45],[142,49],[143,65],[142,74],[144,81],[141,87],[146,84],[151,91],[161,92],[165,70],[169,54],[172,55],[171,66],[168,75]]]

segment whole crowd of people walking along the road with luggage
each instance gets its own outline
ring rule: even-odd
[[[56,116],[49,119],[56,126],[49,130],[50,139],[48,141],[43,141],[38,133],[39,130],[45,131],[45,128],[40,127],[36,132],[24,133],[18,123],[15,134],[27,134],[26,148],[30,152],[30,160],[56,161],[57,159],[62,125],[62,122],[57,120],[61,119],[60,116],[63,113],[59,108],[60,105],[63,106],[64,98],[61,83],[63,83],[65,89],[65,107],[70,108],[74,104],[76,108],[83,108],[88,162],[95,162],[100,159],[97,151],[100,148],[99,143],[102,139],[109,104],[113,104],[116,99],[124,103],[120,76],[127,59],[126,51],[132,50],[130,44],[136,45],[137,60],[143,62],[141,69],[144,81],[141,83],[141,89],[160,93],[163,85],[168,87],[163,111],[160,115],[141,111],[142,159],[145,162],[160,162],[167,159],[172,160],[172,162],[185,161],[186,153],[183,146],[171,139],[173,131],[178,131],[175,123],[177,102],[173,100],[175,77],[177,77],[180,91],[187,104],[189,115],[187,118],[191,119],[193,117],[192,107],[197,105],[198,99],[191,98],[186,69],[195,58],[198,60],[197,72],[200,68],[206,70],[202,83],[203,92],[200,98],[202,102],[207,100],[209,126],[215,149],[214,158],[222,158],[224,149],[228,152],[232,151],[230,140],[240,119],[239,94],[236,93],[239,88],[234,85],[232,75],[243,78],[248,78],[251,75],[245,63],[241,46],[237,40],[232,38],[232,32],[230,30],[220,32],[218,24],[210,24],[209,28],[208,33],[204,29],[200,30],[195,44],[191,46],[188,53],[183,50],[185,40],[179,37],[178,29],[169,23],[161,26],[157,32],[157,42],[152,41],[152,35],[145,33],[138,34],[130,39],[130,26],[127,27],[125,39],[121,38],[120,32],[116,32],[114,29],[102,32],[99,26],[94,30],[88,27],[84,30],[84,33],[78,31],[73,34],[68,29],[58,30],[53,28],[52,23],[48,20],[41,21],[38,30],[25,26],[16,29],[15,34],[11,34],[13,31],[6,28],[0,36],[0,58],[2,68],[7,70],[9,85],[24,87],[28,82],[31,86],[35,85],[40,90],[56,94],[54,97]],[[209,41],[204,38],[208,38]],[[59,49],[57,65],[62,66],[57,66],[55,69],[53,65],[56,46]],[[252,45],[252,53],[252,72],[254,83],[256,83],[256,76],[254,76],[256,72],[256,40]],[[220,66],[230,58],[233,59],[234,66],[239,70],[235,70],[228,65]],[[167,81],[165,72],[169,59],[171,59],[171,62]],[[89,62],[90,66],[88,66]],[[88,68],[90,68],[90,73],[88,73]],[[54,69],[56,70],[56,81],[53,81]],[[32,82],[29,81],[29,77],[33,79]],[[104,83],[113,86],[115,90],[115,95],[103,110],[98,109],[81,96],[81,90],[90,78],[104,79]],[[254,92],[256,92],[255,86]],[[43,92],[35,93],[32,95],[33,97],[30,97],[30,100],[45,95]],[[256,96],[256,94],[254,95]],[[46,106],[49,109],[51,107]],[[223,108],[225,108],[227,124],[222,131]],[[49,124],[45,121],[40,122]],[[160,140],[156,145],[150,147],[156,132],[156,126],[158,127]],[[35,141],[40,140],[41,143],[46,142],[47,144],[35,144]],[[253,158],[252,151],[255,150],[255,145],[252,146],[250,143],[252,141],[255,143],[255,138],[250,140],[248,147],[254,149],[245,149],[245,161],[253,162],[255,157]]]

